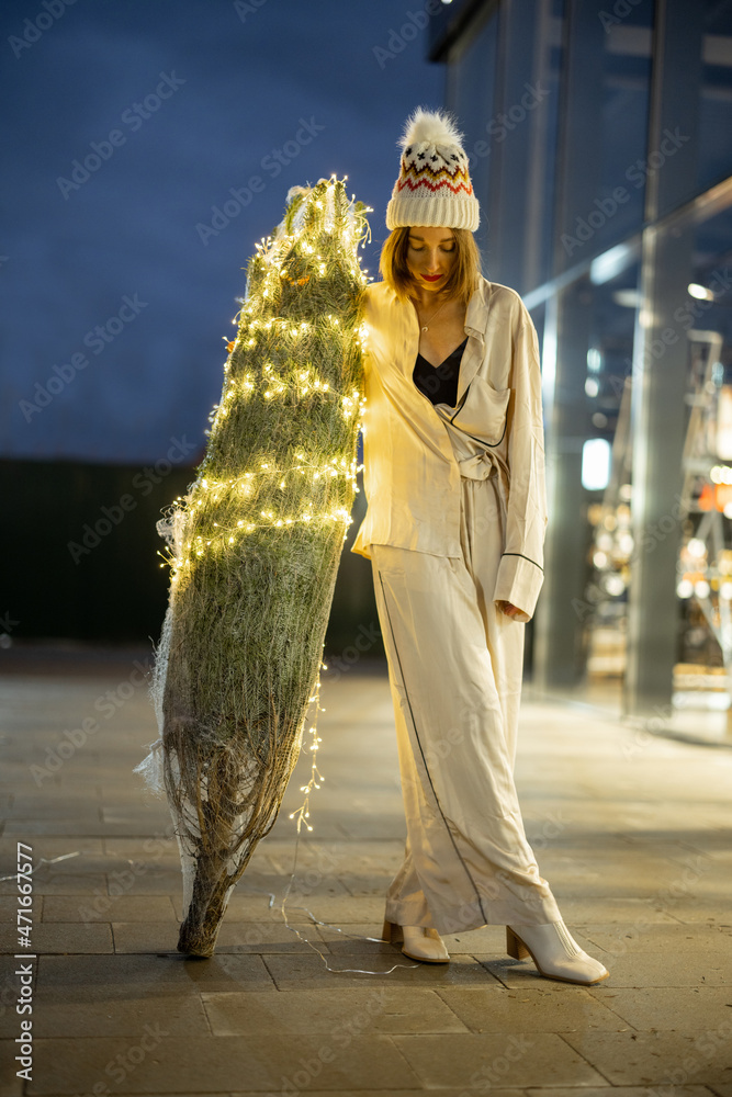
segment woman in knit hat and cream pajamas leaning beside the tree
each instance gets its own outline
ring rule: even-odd
[[[364,296],[367,516],[407,823],[384,938],[425,961],[440,934],[505,924],[507,950],[585,985],[514,784],[525,623],[547,525],[537,336],[481,275],[480,211],[450,117],[407,123],[383,281]]]

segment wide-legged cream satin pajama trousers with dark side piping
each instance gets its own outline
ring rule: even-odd
[[[493,601],[493,477],[461,495],[461,557],[371,545],[407,824],[385,916],[441,934],[561,918],[514,783],[526,626]]]

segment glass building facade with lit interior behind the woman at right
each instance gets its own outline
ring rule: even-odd
[[[732,2],[453,0],[430,56],[542,349],[532,679],[730,735]]]

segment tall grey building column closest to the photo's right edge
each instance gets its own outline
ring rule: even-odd
[[[684,320],[694,269],[694,219],[658,223],[697,190],[698,97],[706,5],[658,0],[654,29],[649,150],[668,132],[683,144],[646,182],[641,308],[631,388],[633,557],[628,606],[623,712],[657,715],[673,693],[680,613],[676,566],[682,533],[678,499],[688,420],[689,347]],[[676,138],[678,139],[678,138]],[[671,148],[674,142],[671,142]],[[679,313],[678,309],[682,312]],[[688,326],[688,324],[687,324]]]

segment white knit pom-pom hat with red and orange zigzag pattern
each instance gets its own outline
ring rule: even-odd
[[[468,157],[451,115],[418,106],[407,118],[399,142],[402,166],[386,206],[386,227],[478,226],[481,210],[473,193]]]

